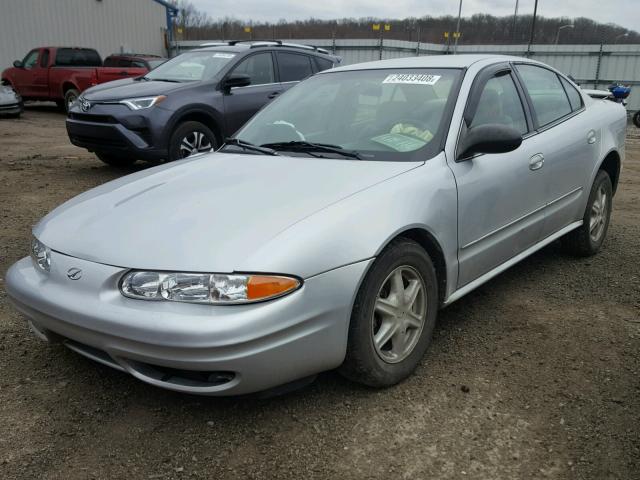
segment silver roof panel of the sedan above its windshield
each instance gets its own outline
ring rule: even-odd
[[[382,68],[468,68],[477,62],[491,64],[515,60],[530,61],[526,58],[514,57],[510,55],[426,55],[423,57],[403,57],[393,58],[389,60],[378,60],[375,62],[356,63],[353,65],[334,68],[331,71],[339,72],[347,70],[373,70]]]

